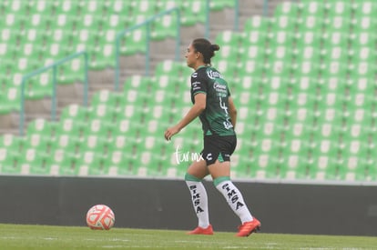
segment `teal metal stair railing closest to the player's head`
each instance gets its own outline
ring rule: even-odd
[[[156,19],[163,15],[171,15],[172,13],[176,13],[177,15],[177,35],[176,35],[176,51],[175,51],[175,60],[178,61],[179,58],[179,45],[180,45],[180,11],[178,7],[168,9],[166,11],[163,11],[161,13],[158,13],[157,15],[154,15],[144,21],[141,24],[134,25],[132,27],[127,28],[126,30],[123,30],[119,33],[117,33],[116,38],[116,68],[115,68],[115,90],[117,91],[119,89],[119,71],[120,71],[120,65],[119,65],[119,56],[120,56],[120,40],[126,35],[127,33],[134,31],[138,28],[145,27],[147,30],[147,41],[146,41],[146,75],[149,75],[149,61],[150,61],[150,52],[149,52],[149,43],[150,43],[150,24],[154,22]]]

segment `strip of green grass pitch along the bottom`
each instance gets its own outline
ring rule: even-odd
[[[0,224],[0,249],[377,249],[377,237],[232,233],[186,235],[185,231],[82,226]]]

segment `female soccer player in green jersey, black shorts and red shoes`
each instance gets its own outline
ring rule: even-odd
[[[237,145],[234,131],[237,110],[230,97],[225,79],[210,64],[210,59],[219,50],[207,39],[192,41],[185,55],[187,65],[195,70],[191,75],[191,101],[187,115],[177,125],[165,131],[165,139],[173,135],[199,116],[204,132],[202,159],[193,162],[185,175],[186,184],[192,197],[192,204],[199,219],[199,225],[189,235],[213,235],[209,224],[208,197],[201,183],[211,175],[213,184],[227,199],[229,206],[239,216],[241,225],[237,236],[249,236],[260,229],[260,221],[250,214],[239,189],[230,181],[230,155]]]

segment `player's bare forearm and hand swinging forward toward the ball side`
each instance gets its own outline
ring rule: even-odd
[[[178,134],[181,129],[189,125],[189,123],[191,123],[195,118],[197,118],[204,111],[204,109],[206,109],[206,100],[207,100],[206,94],[198,93],[197,95],[195,95],[194,99],[195,99],[195,103],[189,109],[188,114],[186,114],[182,118],[182,120],[178,122],[177,125],[169,127],[167,131],[165,131],[165,139],[169,141],[173,135]]]

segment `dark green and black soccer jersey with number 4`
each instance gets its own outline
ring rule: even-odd
[[[192,103],[199,93],[207,95],[206,109],[199,115],[204,135],[235,135],[229,116],[229,87],[219,71],[200,66],[191,75]]]

